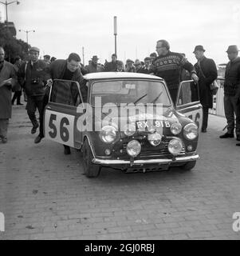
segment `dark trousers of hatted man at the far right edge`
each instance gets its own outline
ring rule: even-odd
[[[240,105],[238,98],[235,96],[224,95],[224,110],[227,121],[227,133],[234,134],[235,119],[236,115],[236,134],[240,135]]]

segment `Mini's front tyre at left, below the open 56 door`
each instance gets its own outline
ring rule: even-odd
[[[84,172],[85,175],[88,178],[96,178],[100,174],[100,166],[97,166],[92,163],[92,150],[89,146],[88,139],[85,139],[83,148],[82,148],[82,154],[83,154],[83,166],[84,166]]]

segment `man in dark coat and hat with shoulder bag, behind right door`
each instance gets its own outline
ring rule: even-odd
[[[203,46],[195,46],[194,54],[198,63],[195,70],[199,77],[200,102],[203,105],[203,126],[202,132],[207,132],[208,111],[213,107],[213,95],[210,91],[210,84],[218,78],[218,70],[214,60],[204,56]]]

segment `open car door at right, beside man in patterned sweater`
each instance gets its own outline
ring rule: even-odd
[[[199,85],[192,80],[183,81],[179,84],[178,97],[175,102],[175,109],[191,118],[195,124],[202,129],[203,106],[199,99]]]

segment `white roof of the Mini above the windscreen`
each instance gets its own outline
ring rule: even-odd
[[[151,74],[141,74],[141,73],[130,73],[130,72],[97,72],[85,74],[84,78],[86,80],[92,79],[108,79],[108,78],[144,78],[144,79],[157,79],[163,81],[163,78],[156,77]]]

